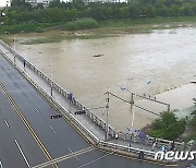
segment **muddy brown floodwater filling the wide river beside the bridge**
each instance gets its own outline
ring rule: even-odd
[[[42,34],[20,35],[16,51],[58,82],[88,108],[105,106],[106,92],[130,100],[130,93],[156,95],[185,85],[196,73],[196,28],[154,31],[101,39],[72,39],[53,44],[21,45]],[[102,55],[100,57],[93,57]],[[51,63],[52,62],[52,63]],[[51,75],[52,73],[52,75]],[[166,110],[166,109],[161,109]],[[103,109],[96,109],[106,119]],[[155,116],[135,108],[134,128]],[[110,96],[109,123],[131,127],[130,105]]]

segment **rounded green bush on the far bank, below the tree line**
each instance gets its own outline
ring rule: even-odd
[[[64,29],[66,31],[77,31],[77,29],[88,29],[98,27],[98,23],[94,19],[82,19],[78,21],[69,22]]]

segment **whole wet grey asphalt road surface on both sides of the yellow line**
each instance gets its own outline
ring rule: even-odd
[[[0,92],[0,167],[25,168],[47,161],[46,153],[51,158],[70,155],[90,145],[62,118],[50,119],[56,110],[34,89],[34,87],[0,56],[0,83],[25,117],[33,133],[27,130],[11,103]],[[10,128],[7,127],[8,120]],[[36,134],[40,143],[33,139]],[[35,135],[34,135],[35,136]],[[15,141],[16,140],[16,141]],[[19,145],[20,144],[20,145]],[[39,144],[39,145],[38,145]],[[22,148],[23,154],[20,152]],[[45,152],[44,152],[45,151]],[[13,161],[12,161],[13,160]],[[17,165],[19,164],[19,165]],[[127,159],[93,149],[78,156],[68,157],[58,164],[61,168],[159,168],[163,166]]]

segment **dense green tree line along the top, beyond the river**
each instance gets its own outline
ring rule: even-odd
[[[82,0],[53,0],[47,9],[32,8],[25,0],[13,0],[5,10],[4,24],[24,22],[59,23],[83,17],[95,20],[138,19],[157,16],[194,16],[196,0],[130,0],[127,3],[84,3]]]

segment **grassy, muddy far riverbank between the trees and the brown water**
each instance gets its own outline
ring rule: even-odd
[[[83,26],[83,28],[79,28],[78,26],[78,28],[74,31],[68,31],[68,24],[69,23],[28,23],[20,25],[4,25],[0,27],[0,34],[1,38],[10,44],[8,35],[3,35],[4,32],[9,32],[10,34],[16,34],[21,31],[24,31],[24,33],[42,33],[46,35],[45,38],[30,39],[24,41],[24,45],[48,44],[59,43],[64,39],[97,39],[117,37],[122,34],[151,33],[154,29],[169,29],[187,26],[195,27],[196,16],[106,20],[99,21],[98,27],[96,28],[85,28],[85,26]],[[52,32],[56,33],[53,34]]]

